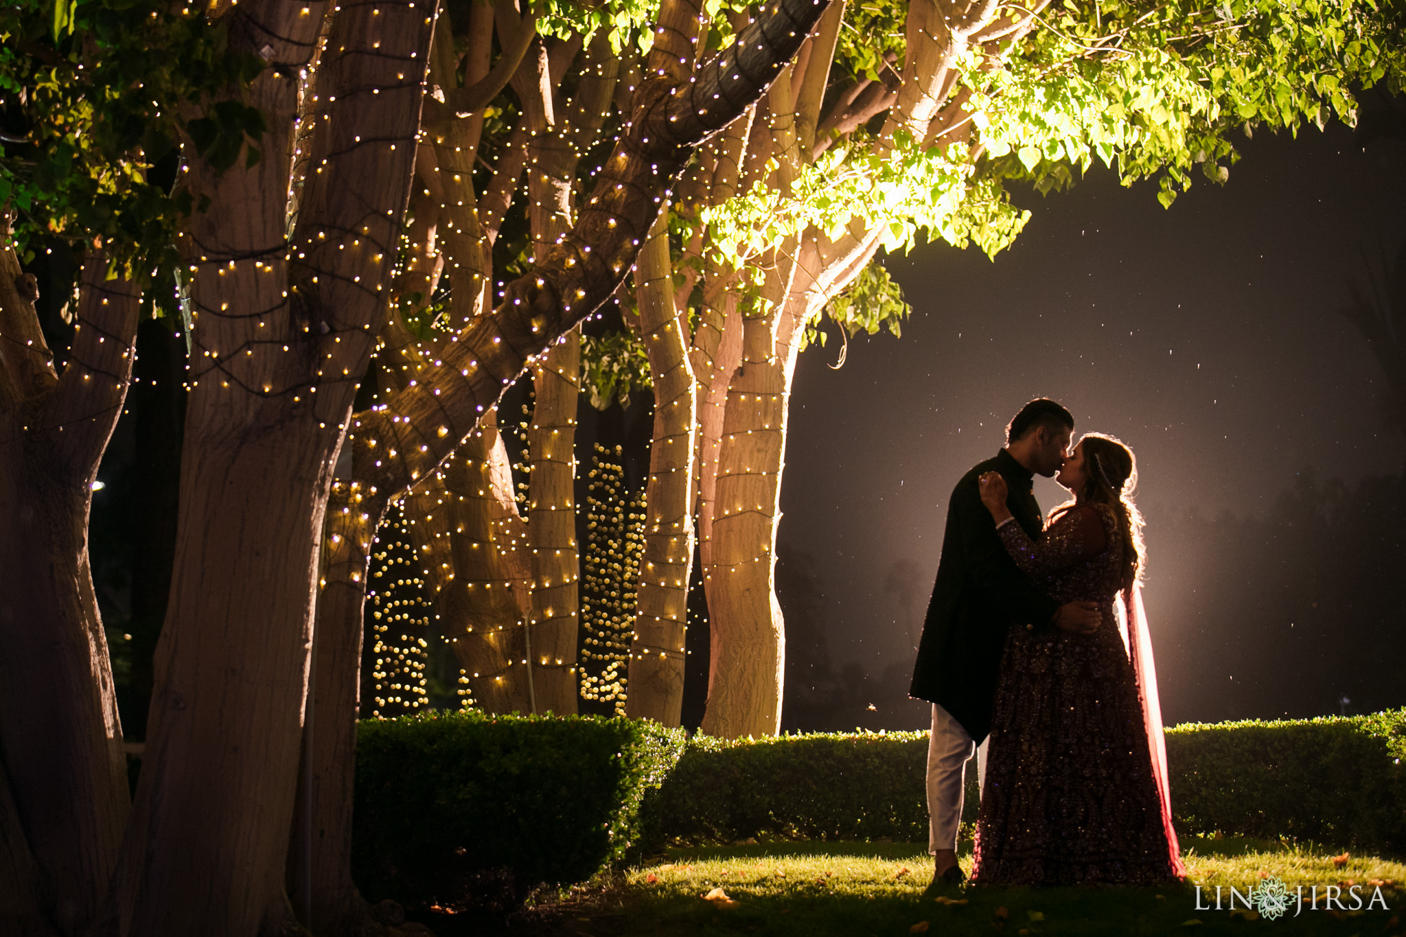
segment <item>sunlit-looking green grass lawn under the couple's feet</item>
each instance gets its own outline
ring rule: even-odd
[[[1323,934],[1388,937],[1406,926],[1406,864],[1371,857],[1333,857],[1301,847],[1240,839],[1191,840],[1184,844],[1191,885],[1167,888],[952,888],[939,900],[924,900],[931,858],[907,843],[770,843],[671,850],[662,861],[628,870],[544,902],[509,922],[506,933],[678,934],[681,937],[775,936],[898,937],[929,934]],[[1340,860],[1343,857],[1339,857]],[[970,865],[970,856],[963,858]],[[1261,872],[1278,877],[1291,892],[1305,886],[1303,912],[1294,905],[1278,920],[1247,919],[1243,910],[1204,910],[1215,905],[1215,886],[1241,892]],[[1344,881],[1364,886],[1364,910],[1329,913],[1322,886]],[[1368,912],[1375,885],[1389,910]],[[1202,886],[1197,910],[1195,885]],[[1320,910],[1308,909],[1309,888],[1319,885]],[[703,895],[721,888],[727,899]],[[716,892],[714,892],[716,895]],[[1350,902],[1344,900],[1350,907]],[[449,920],[427,922],[441,937],[456,933]],[[467,922],[465,922],[467,923]],[[482,922],[479,922],[482,924]],[[498,929],[492,929],[498,930]],[[474,933],[484,933],[475,927]]]

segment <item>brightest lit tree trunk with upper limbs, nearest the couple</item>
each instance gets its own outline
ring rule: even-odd
[[[1031,11],[1005,15],[995,4],[914,4],[898,87],[856,86],[821,114],[842,15],[842,4],[835,4],[821,20],[794,77],[772,87],[758,115],[766,125],[754,128],[748,142],[748,173],[763,171],[775,159],[768,184],[783,194],[804,163],[884,111],[873,143],[880,155],[890,152],[898,131],[929,143],[938,132],[948,133],[946,140],[965,139],[965,98],[952,96],[960,56],[973,46],[994,53],[998,42],[1018,39],[1033,24]],[[711,655],[702,729],[709,735],[773,735],[780,728],[786,629],[775,563],[796,354],[806,323],[859,275],[877,246],[876,232],[851,223],[839,237],[804,230],[754,261],[765,275],[761,309],[744,316],[742,362],[728,385],[716,465],[703,464],[700,486]]]

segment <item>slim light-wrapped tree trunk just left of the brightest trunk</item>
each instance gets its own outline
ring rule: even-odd
[[[697,386],[688,357],[686,310],[675,305],[664,223],[655,225],[640,250],[636,282],[640,330],[654,376],[654,440],[626,714],[676,726],[683,704],[683,632],[693,563]]]

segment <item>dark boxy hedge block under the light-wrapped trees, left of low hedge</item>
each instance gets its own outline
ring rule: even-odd
[[[360,723],[353,874],[367,898],[520,899],[620,858],[682,729],[595,716],[420,714]]]

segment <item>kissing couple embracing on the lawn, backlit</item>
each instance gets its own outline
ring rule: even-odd
[[[963,774],[977,754],[972,881],[1152,885],[1185,875],[1171,826],[1139,593],[1132,450],[1026,403],[957,482],[910,694],[932,702],[929,892],[957,885]],[[1035,475],[1071,500],[1042,521]]]

